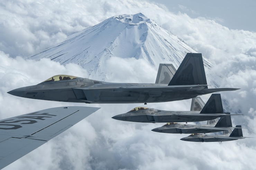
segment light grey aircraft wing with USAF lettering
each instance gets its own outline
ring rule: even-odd
[[[100,108],[58,107],[0,120],[0,169]]]

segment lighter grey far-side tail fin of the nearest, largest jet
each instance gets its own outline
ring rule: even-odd
[[[175,72],[176,69],[173,64],[159,64],[155,83],[168,84],[173,78]]]

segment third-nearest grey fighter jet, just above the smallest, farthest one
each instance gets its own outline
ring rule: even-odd
[[[229,114],[229,113],[226,113]],[[217,124],[183,124],[183,123],[166,123],[164,126],[152,129],[154,132],[162,133],[212,133],[225,130],[233,130],[231,117],[221,117]]]

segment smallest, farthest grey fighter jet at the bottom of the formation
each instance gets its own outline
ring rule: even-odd
[[[226,135],[226,134],[207,135],[202,133],[195,133],[195,134],[191,134],[188,137],[181,138],[181,140],[191,141],[191,142],[222,142],[222,141],[231,141],[231,140],[244,139],[244,138],[247,138],[247,137],[243,137],[241,125],[237,125],[230,135]]]

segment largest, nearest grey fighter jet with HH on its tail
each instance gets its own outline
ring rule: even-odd
[[[187,53],[168,84],[111,83],[67,75],[53,76],[35,86],[8,93],[32,99],[85,103],[149,103],[184,100],[217,91],[208,89],[202,54]]]

